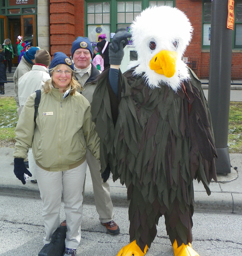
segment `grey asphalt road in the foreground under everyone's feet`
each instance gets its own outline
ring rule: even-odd
[[[98,220],[94,205],[84,205],[82,239],[76,256],[116,256],[129,242],[127,207],[114,207],[121,234],[112,237]],[[40,199],[0,196],[0,256],[37,256],[43,247]],[[64,220],[63,204],[61,220]],[[241,256],[242,215],[195,213],[193,248],[200,256]],[[146,256],[174,256],[164,218]]]

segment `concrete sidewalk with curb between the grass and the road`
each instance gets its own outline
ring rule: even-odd
[[[40,198],[37,184],[23,185],[14,174],[13,148],[0,148],[0,194],[15,197]],[[195,211],[242,214],[242,154],[230,154],[231,173],[218,174],[212,182],[212,194],[207,195],[203,185],[194,181]],[[110,193],[115,206],[128,206],[127,189],[119,181],[109,179]],[[90,171],[87,171],[85,204],[94,204]]]

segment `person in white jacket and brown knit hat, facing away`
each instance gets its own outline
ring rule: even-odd
[[[20,105],[20,113],[23,110],[28,97],[38,89],[43,89],[46,81],[50,80],[48,67],[51,57],[46,50],[37,50],[35,53],[35,64],[32,69],[20,77],[18,81],[18,99]],[[31,183],[37,183],[35,176],[36,163],[33,158],[32,149],[29,154],[29,171],[32,173]]]

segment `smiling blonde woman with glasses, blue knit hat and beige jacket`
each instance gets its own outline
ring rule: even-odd
[[[60,226],[61,195],[66,215],[67,236],[63,256],[76,256],[81,239],[82,190],[85,181],[86,151],[99,159],[99,137],[91,121],[91,106],[77,92],[74,65],[62,52],[56,52],[49,67],[51,79],[41,90],[36,126],[34,99],[26,101],[16,126],[14,172],[25,184],[24,158],[32,147],[36,178],[43,202],[44,243]]]

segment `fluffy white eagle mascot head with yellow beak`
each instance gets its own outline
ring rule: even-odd
[[[136,17],[131,31],[138,59],[128,68],[138,65],[134,74],[144,72],[151,88],[164,82],[177,91],[181,81],[189,79],[182,55],[192,38],[193,28],[186,15],[169,6],[149,7]]]

